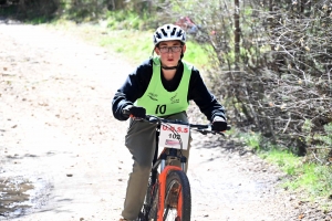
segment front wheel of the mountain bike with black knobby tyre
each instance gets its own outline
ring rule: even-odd
[[[184,171],[173,170],[167,175],[165,193],[163,221],[190,221],[190,185]]]

